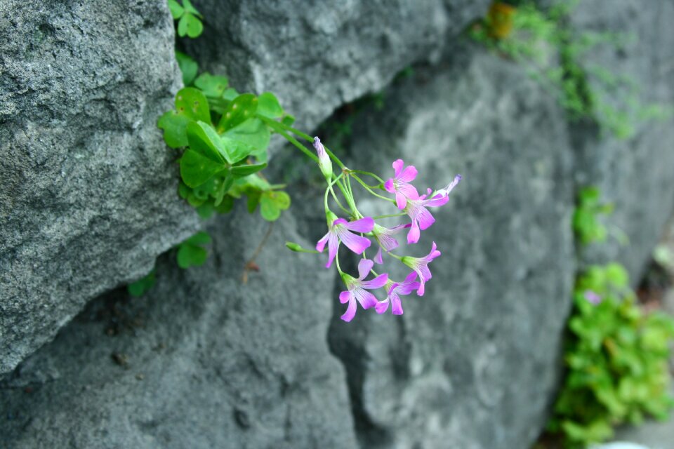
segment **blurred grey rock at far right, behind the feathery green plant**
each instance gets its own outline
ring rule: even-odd
[[[572,15],[572,25],[586,32],[621,34],[623,46],[600,44],[584,57],[592,69],[604,67],[631,79],[638,86],[642,105],[654,102],[674,105],[674,4],[650,1],[647,7],[637,0],[581,1]],[[590,86],[600,81],[590,77]],[[614,104],[626,104],[627,89],[608,97]],[[674,110],[672,110],[674,112]],[[620,260],[637,283],[646,268],[668,217],[674,212],[674,114],[668,119],[637,122],[628,140],[601,138],[597,130],[572,128],[579,162],[578,185],[597,185],[604,198],[615,205],[606,222],[614,235],[624,233],[629,244],[609,238],[590,248],[587,260]]]

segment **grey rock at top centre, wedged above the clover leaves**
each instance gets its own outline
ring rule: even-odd
[[[274,92],[310,129],[443,48],[491,0],[202,0],[204,35],[189,53],[239,90]],[[217,36],[217,37],[215,37]]]

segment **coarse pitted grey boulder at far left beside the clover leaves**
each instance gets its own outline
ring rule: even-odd
[[[0,4],[0,373],[194,232],[166,1]]]

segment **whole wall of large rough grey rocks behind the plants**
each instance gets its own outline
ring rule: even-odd
[[[300,128],[411,62],[434,62],[389,86],[384,109],[359,116],[348,145],[350,166],[392,173],[398,157],[414,163],[420,187],[464,175],[414,248],[439,246],[433,279],[404,300],[403,316],[359,310],[340,321],[342,286],[325,255],[283,247],[324,233],[321,192],[307,177],[306,191],[293,183],[290,213],[247,285],[240,276],[266,225],[239,207],[209,225],[204,267],[161,257],[145,297],[98,298],[5,375],[0,447],[529,447],[560,375],[574,191],[594,183],[615,201],[610,220],[632,246],[609,252],[638,273],[674,205],[674,131],[643,124],[619,142],[569,125],[526,69],[456,43],[487,3],[197,3],[206,29],[187,51],[242,90],[275,91]],[[88,298],[149,269],[195,220],[154,128],[179,83],[164,2],[5,1],[0,12],[6,371]],[[645,101],[672,98],[671,22],[665,0],[588,0],[571,21],[641,36],[595,51],[635,77]],[[286,154],[273,170],[303,173]],[[379,213],[373,202],[363,210]]]

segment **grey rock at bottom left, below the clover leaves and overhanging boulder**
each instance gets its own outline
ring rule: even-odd
[[[284,248],[303,242],[286,215],[242,286],[266,225],[219,222],[206,265],[169,253],[145,297],[96,300],[6,379],[0,447],[357,447],[326,342],[333,275]]]

